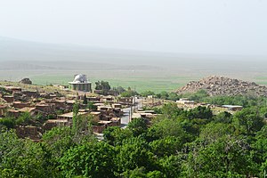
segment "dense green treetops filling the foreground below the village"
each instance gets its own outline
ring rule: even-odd
[[[245,109],[216,116],[168,103],[151,123],[137,118],[125,129],[108,127],[103,141],[91,134],[90,118],[77,115],[72,128],[53,128],[42,142],[19,139],[2,121],[0,177],[264,177],[266,106],[254,101],[263,99],[244,98]]]

